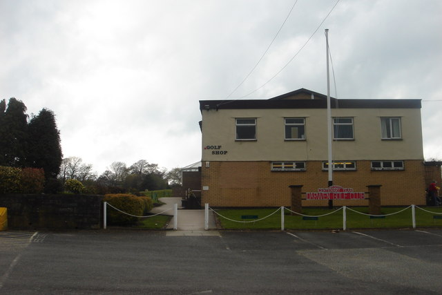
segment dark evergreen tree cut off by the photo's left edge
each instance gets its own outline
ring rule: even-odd
[[[21,100],[12,97],[8,108],[0,102],[0,165],[23,167],[26,163],[28,115]]]

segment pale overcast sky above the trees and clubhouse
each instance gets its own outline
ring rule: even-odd
[[[228,97],[295,2],[0,0],[0,99],[54,111],[64,157],[97,173],[186,166],[201,159],[198,100]],[[327,94],[328,28],[332,96],[423,99],[424,155],[442,159],[442,1],[340,0],[320,26],[335,3],[298,0],[230,98]]]

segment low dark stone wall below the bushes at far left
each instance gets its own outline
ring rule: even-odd
[[[9,229],[99,229],[102,196],[0,194]]]

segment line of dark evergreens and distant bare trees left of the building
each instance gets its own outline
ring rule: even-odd
[[[0,101],[0,167],[16,169],[5,168],[0,174],[1,171],[15,173],[15,182],[23,178],[17,169],[32,168],[39,171],[26,170],[21,175],[27,175],[29,171],[44,173],[45,193],[136,193],[181,184],[179,168],[166,171],[146,160],[139,160],[131,166],[113,162],[104,173],[97,175],[93,165],[84,163],[81,158],[63,158],[52,111],[43,108],[38,115],[31,116],[26,111],[26,105],[15,97],[10,98],[8,104],[6,99]],[[37,176],[32,175],[32,180]]]

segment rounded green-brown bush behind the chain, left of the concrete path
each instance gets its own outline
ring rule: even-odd
[[[104,202],[111,206],[134,216],[143,216],[145,203],[142,198],[127,193],[116,193],[104,195]],[[107,208],[107,220],[110,225],[134,225],[137,217],[128,216],[112,207]]]

